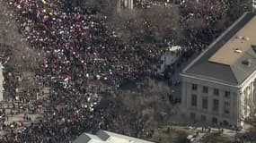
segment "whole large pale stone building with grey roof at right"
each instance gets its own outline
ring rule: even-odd
[[[243,126],[256,103],[255,25],[244,13],[182,71],[182,114],[191,122]]]

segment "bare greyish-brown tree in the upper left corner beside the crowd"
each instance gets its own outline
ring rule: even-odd
[[[39,68],[43,55],[40,51],[31,49],[30,45],[22,38],[19,23],[14,20],[15,13],[4,6],[0,6],[0,48],[1,51],[11,51],[11,56],[6,66],[14,71],[35,71]]]

